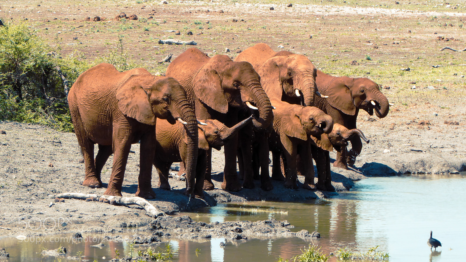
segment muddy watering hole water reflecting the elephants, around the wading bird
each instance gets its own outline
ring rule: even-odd
[[[184,213],[196,221],[258,221],[267,218],[288,220],[296,228],[317,231],[322,238],[312,243],[326,253],[347,247],[354,251],[388,252],[390,261],[464,261],[466,247],[466,173],[450,175],[406,175],[369,178],[356,182],[354,190],[340,193],[329,200],[308,203],[248,202],[219,204],[197,213]],[[429,231],[443,247],[432,251],[427,246]],[[99,239],[100,237],[100,239]],[[127,241],[106,242],[102,249],[90,247],[103,236],[84,241],[70,241],[69,235],[44,239],[0,239],[0,247],[10,253],[8,261],[54,261],[41,257],[42,248],[67,247],[68,255],[84,255],[84,259],[108,261],[130,252]],[[130,237],[131,238],[131,237]],[[124,239],[124,237],[123,237]],[[233,262],[276,261],[300,254],[309,242],[299,238],[250,239],[226,241],[168,240],[179,261]],[[220,247],[220,242],[226,242]],[[159,244],[163,246],[164,243]],[[145,249],[147,247],[137,247]],[[200,251],[196,253],[196,249]],[[79,253],[82,252],[82,253]],[[105,256],[105,259],[103,259]],[[62,259],[62,261],[65,261]]]

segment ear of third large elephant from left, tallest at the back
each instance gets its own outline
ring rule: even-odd
[[[283,88],[280,80],[280,64],[284,59],[282,56],[271,57],[257,69],[260,84],[270,98],[281,100]]]

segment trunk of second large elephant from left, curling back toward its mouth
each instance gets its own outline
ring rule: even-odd
[[[247,87],[251,90],[251,98],[254,100],[259,110],[259,117],[253,119],[254,127],[259,130],[264,130],[273,121],[272,104],[259,81],[252,81]]]

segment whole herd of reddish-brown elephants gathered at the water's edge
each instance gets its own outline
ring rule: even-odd
[[[264,43],[247,48],[234,61],[189,48],[165,75],[141,68],[118,72],[113,65],[99,64],[76,79],[68,100],[84,157],[83,186],[103,186],[101,171],[113,154],[104,194],[121,196],[131,144],[140,141],[136,196],[146,199],[155,198],[152,165],[159,186],[170,190],[173,162],[182,162],[185,194],[202,198],[203,190],[214,188],[212,148],[221,146],[224,190],[254,188],[254,179],[260,179],[263,190],[273,188],[270,179],[297,188],[300,174],[303,188],[335,191],[329,152],[336,150],[334,166],[353,165],[361,139],[369,143],[356,129],[359,110],[385,117],[390,107],[370,79],[324,74],[306,56],[274,52]]]

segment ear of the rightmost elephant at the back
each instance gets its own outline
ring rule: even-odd
[[[329,88],[325,90],[325,94],[322,95],[329,96],[327,101],[334,108],[342,111],[347,115],[354,116],[356,114],[356,106],[353,102],[353,97],[351,97],[351,91],[349,90],[348,84],[352,78],[349,77],[338,77],[338,80],[331,83]]]

